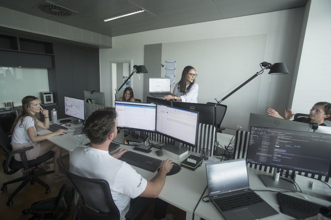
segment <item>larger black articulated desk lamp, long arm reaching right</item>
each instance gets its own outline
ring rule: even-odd
[[[224,101],[225,99],[227,99],[230,95],[232,95],[233,93],[238,91],[241,87],[243,87],[245,84],[247,84],[248,82],[253,80],[256,76],[262,74],[264,69],[270,69],[269,74],[288,74],[288,70],[286,68],[286,65],[283,62],[275,62],[274,64],[271,64],[270,62],[264,61],[264,62],[260,63],[260,66],[261,66],[260,71],[256,72],[249,79],[247,79],[242,84],[240,84],[238,87],[233,89],[233,91],[231,91],[229,94],[227,94],[224,98],[222,98],[219,101],[215,98],[215,100],[217,101],[217,104],[219,104],[222,101]],[[227,151],[227,149],[224,150],[224,149],[219,149],[219,147],[215,147],[213,154],[214,155],[225,155],[225,151]]]

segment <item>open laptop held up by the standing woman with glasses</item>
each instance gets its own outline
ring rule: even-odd
[[[155,98],[174,95],[170,92],[171,78],[149,78],[149,94]]]

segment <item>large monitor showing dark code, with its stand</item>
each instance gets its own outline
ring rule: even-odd
[[[267,187],[295,190],[279,169],[330,176],[330,144],[330,134],[252,125],[246,161],[275,167],[273,177],[259,175]]]

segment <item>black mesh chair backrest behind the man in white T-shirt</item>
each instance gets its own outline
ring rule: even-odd
[[[75,190],[80,195],[80,200],[83,204],[83,208],[88,209],[88,213],[95,213],[94,217],[100,219],[104,214],[108,216],[108,219],[119,219],[119,211],[112,198],[109,184],[103,179],[87,178],[75,173],[70,172],[63,165],[60,158],[57,159],[60,169],[66,174],[67,179],[72,184]],[[84,215],[88,213],[84,212]],[[101,216],[100,216],[101,214]],[[84,216],[84,218],[89,218]]]

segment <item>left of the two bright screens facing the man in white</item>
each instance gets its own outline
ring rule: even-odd
[[[155,104],[115,101],[115,110],[117,112],[117,127],[155,131]]]

